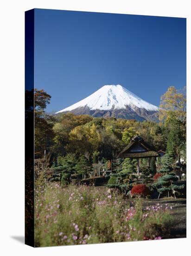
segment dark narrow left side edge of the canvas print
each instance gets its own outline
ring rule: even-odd
[[[25,244],[34,247],[34,9],[25,12]]]

